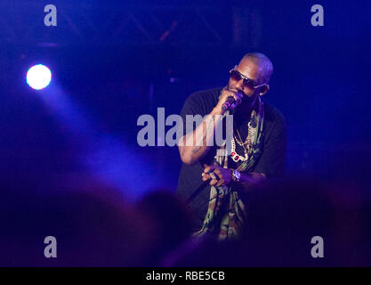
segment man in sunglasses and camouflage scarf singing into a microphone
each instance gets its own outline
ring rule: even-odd
[[[230,70],[226,87],[191,94],[184,103],[184,130],[186,115],[204,118],[179,141],[183,164],[177,195],[190,204],[196,236],[213,232],[220,240],[237,238],[246,220],[238,192],[264,179],[284,175],[285,119],[262,101],[262,95],[270,89],[272,72],[267,56],[247,53]],[[215,130],[225,120],[214,118],[226,114],[233,115],[233,134],[226,142],[230,143],[230,155],[220,156],[218,150],[222,148],[211,145]],[[214,130],[206,131],[206,126]]]

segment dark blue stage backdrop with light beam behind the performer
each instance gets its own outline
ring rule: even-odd
[[[57,27],[44,26],[46,4]],[[324,27],[311,26],[313,4]],[[177,148],[138,146],[137,118],[179,114],[191,93],[226,85],[245,53],[262,52],[274,65],[265,99],[286,117],[287,174],[367,193],[369,11],[369,1],[2,2],[0,175],[39,191],[86,181],[128,199],[174,191]],[[26,84],[37,63],[52,70],[43,91]]]

